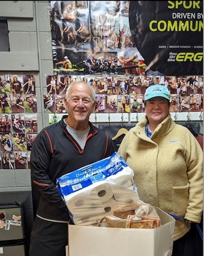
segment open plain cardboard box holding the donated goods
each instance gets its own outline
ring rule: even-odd
[[[170,256],[175,220],[155,209],[161,219],[155,229],[69,225],[69,256]]]

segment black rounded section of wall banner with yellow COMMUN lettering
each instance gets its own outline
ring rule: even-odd
[[[130,1],[133,41],[152,70],[202,75],[202,1]]]

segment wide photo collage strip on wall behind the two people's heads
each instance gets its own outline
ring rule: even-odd
[[[93,113],[144,113],[144,94],[152,84],[168,88],[170,112],[200,112],[203,108],[202,76],[137,76],[82,75],[47,76],[44,112],[67,113],[64,98],[69,84],[77,79],[86,81],[95,90]]]

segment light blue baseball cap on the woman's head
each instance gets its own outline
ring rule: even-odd
[[[165,86],[161,84],[155,84],[154,86],[149,86],[144,94],[144,100],[152,99],[155,97],[163,97],[170,100],[170,93]]]

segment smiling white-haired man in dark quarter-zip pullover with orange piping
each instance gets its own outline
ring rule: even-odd
[[[114,145],[107,133],[89,122],[95,108],[95,91],[84,81],[67,89],[68,116],[45,127],[31,151],[33,200],[40,193],[31,233],[30,256],[65,256],[69,211],[56,187],[56,179],[73,170],[111,156]]]

